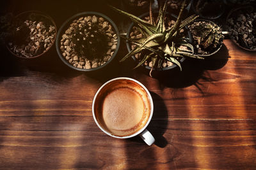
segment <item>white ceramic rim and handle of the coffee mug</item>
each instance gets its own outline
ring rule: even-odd
[[[99,95],[99,92],[103,89],[103,87],[105,87],[106,85],[108,85],[108,83],[110,83],[111,81],[115,81],[115,80],[130,80],[133,81],[135,83],[137,83],[138,85],[140,85],[140,87],[143,88],[143,90],[145,90],[145,92],[147,93],[148,96],[148,100],[150,102],[150,115],[148,117],[147,123],[137,132],[134,132],[134,134],[131,134],[129,136],[115,136],[113,134],[111,134],[110,132],[106,131],[98,122],[96,116],[95,116],[95,101],[97,99],[97,96]],[[154,137],[152,136],[152,134],[146,129],[147,125],[149,124],[152,116],[153,116],[153,111],[154,111],[154,105],[153,105],[153,100],[152,97],[150,95],[150,93],[148,92],[147,88],[141,84],[139,81],[134,80],[132,78],[126,78],[126,77],[120,77],[120,78],[114,78],[112,80],[107,81],[106,83],[104,83],[104,85],[102,85],[100,87],[100,89],[96,92],[94,98],[93,98],[93,103],[92,103],[92,113],[93,113],[93,118],[94,121],[96,122],[96,124],[98,125],[98,127],[101,129],[101,131],[105,132],[106,134],[108,134],[109,136],[112,136],[114,138],[120,138],[120,139],[125,139],[125,138],[132,138],[134,136],[140,135],[140,137],[143,139],[143,141],[145,141],[145,143],[147,143],[147,145],[152,145],[155,141]]]

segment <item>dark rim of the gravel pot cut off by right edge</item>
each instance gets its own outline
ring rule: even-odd
[[[253,8],[253,10],[256,12],[256,4],[245,4],[245,5],[243,5],[243,6],[239,6],[238,8],[233,8],[232,10],[230,10],[229,12],[228,12],[228,15],[227,15],[227,17],[226,17],[226,20],[225,20],[225,28],[227,29],[227,22],[228,22],[228,19],[230,18],[230,16],[234,13],[234,12],[236,12],[236,11],[238,11],[238,10],[241,10],[241,9],[246,9],[246,8]],[[228,35],[230,36],[230,31],[228,31]],[[249,52],[256,52],[256,49],[255,50],[252,50],[252,49],[248,49],[248,48],[245,48],[245,47],[243,47],[243,46],[241,46],[239,43],[237,43],[235,40],[234,40],[234,38],[231,38],[230,37],[230,39],[232,40],[232,42],[233,43],[235,43],[237,46],[239,46],[240,48],[242,48],[242,49],[244,49],[244,50],[247,50],[247,51],[249,51]]]

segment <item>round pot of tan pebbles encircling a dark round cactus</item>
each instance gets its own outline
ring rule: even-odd
[[[61,25],[56,41],[60,59],[78,71],[94,71],[106,66],[115,57],[119,46],[115,23],[97,12],[70,17]]]

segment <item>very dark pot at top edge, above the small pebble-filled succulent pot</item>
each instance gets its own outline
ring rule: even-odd
[[[193,0],[191,3],[193,11],[206,20],[220,18],[225,12],[225,5],[218,0]]]

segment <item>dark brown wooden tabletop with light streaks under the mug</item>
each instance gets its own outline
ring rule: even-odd
[[[158,78],[120,64],[125,53],[122,42],[106,70],[81,73],[54,48],[36,60],[3,50],[0,169],[256,169],[255,52],[225,40],[214,58],[185,60],[184,71]],[[93,96],[118,76],[150,90],[154,145],[111,138],[95,124]]]

